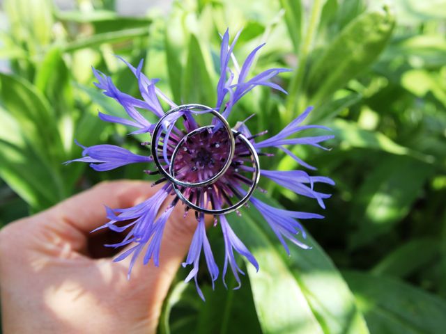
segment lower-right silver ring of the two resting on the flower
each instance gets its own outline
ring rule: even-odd
[[[213,125],[210,125],[209,127],[213,127]],[[239,209],[240,207],[245,205],[245,203],[249,200],[249,198],[251,198],[252,193],[254,193],[254,190],[256,189],[257,184],[259,184],[259,179],[260,179],[259,156],[257,155],[256,149],[254,148],[254,146],[252,146],[252,143],[245,136],[243,136],[243,134],[240,134],[240,132],[237,132],[236,130],[233,130],[233,129],[231,130],[231,132],[233,132],[235,134],[235,136],[240,138],[240,141],[242,141],[247,146],[247,149],[251,152],[252,163],[254,164],[254,173],[252,175],[252,185],[249,187],[249,191],[247,191],[245,196],[239,202],[237,202],[234,205],[231,205],[230,207],[226,207],[224,209],[205,209],[203,207],[199,207],[198,205],[195,205],[194,203],[190,202],[190,200],[185,198],[183,196],[183,193],[181,193],[180,189],[178,189],[178,184],[176,184],[176,182],[174,182],[172,184],[172,186],[174,188],[176,195],[188,207],[192,207],[192,209],[195,209],[199,212],[203,212],[205,214],[214,214],[214,215],[229,214],[229,212],[236,211],[236,209]],[[178,152],[178,148],[179,148],[179,145],[175,148],[174,153],[172,154],[172,159],[171,159],[172,162],[169,167],[170,173],[174,173],[174,161],[175,161],[176,154]],[[231,159],[231,161],[232,161],[232,159]]]

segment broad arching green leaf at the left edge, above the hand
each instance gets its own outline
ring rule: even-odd
[[[0,73],[0,85],[0,102],[6,109],[0,125],[1,176],[34,209],[43,209],[65,198],[68,190],[61,177],[67,152],[59,118],[29,82]]]

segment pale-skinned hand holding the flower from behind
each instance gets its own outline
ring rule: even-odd
[[[105,182],[0,230],[4,333],[155,333],[197,226],[194,214],[183,218],[178,205],[164,230],[160,267],[139,259],[130,280],[130,259],[94,259],[87,250],[90,231],[107,222],[104,205],[131,207],[154,192],[147,182]],[[95,239],[95,248],[103,241]]]

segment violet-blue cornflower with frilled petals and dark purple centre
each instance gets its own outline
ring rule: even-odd
[[[334,184],[328,177],[310,176],[302,170],[260,169],[259,156],[272,156],[272,154],[262,152],[264,148],[279,148],[302,166],[315,169],[296,157],[289,148],[286,148],[286,145],[302,144],[327,150],[321,145],[321,142],[333,138],[331,135],[295,137],[295,134],[306,129],[329,130],[317,125],[302,125],[303,120],[312,110],[311,107],[295,118],[281,132],[263,141],[259,141],[258,138],[266,134],[266,131],[252,135],[245,124],[247,120],[238,122],[233,129],[227,123],[226,119],[233,111],[233,107],[254,87],[268,86],[286,93],[272,79],[277,74],[289,71],[284,68],[273,68],[249,77],[254,58],[263,45],[256,47],[239,69],[233,55],[238,35],[231,44],[229,43],[229,31],[222,35],[217,104],[212,108],[192,104],[177,106],[156,87],[157,79],[148,79],[142,73],[142,61],[137,67],[134,67],[121,58],[137,79],[141,99],[122,93],[114,86],[112,79],[93,69],[98,80],[95,85],[103,90],[107,97],[112,97],[121,104],[129,118],[110,116],[105,113],[99,113],[99,117],[106,122],[135,128],[132,133],[151,134],[152,154],[138,155],[114,145],[95,145],[87,148],[79,144],[84,149],[82,158],[67,161],[67,164],[74,161],[88,162],[91,168],[98,171],[111,170],[126,164],[155,163],[155,170],[145,171],[153,175],[162,175],[155,183],[165,182],[164,186],[151,198],[134,207],[107,207],[109,221],[100,228],[109,228],[116,232],[130,229],[130,232],[120,243],[106,246],[117,248],[134,244],[115,259],[115,261],[120,261],[125,257],[132,257],[129,276],[132,266],[141,253],[144,253],[141,255],[144,264],[152,260],[153,264],[158,266],[164,228],[169,223],[169,216],[174,207],[183,204],[185,212],[190,209],[195,210],[197,229],[183,267],[192,266],[186,281],[194,279],[202,299],[204,296],[197,280],[202,253],[213,285],[220,273],[206,236],[205,214],[214,214],[215,225],[220,222],[222,229],[224,239],[223,282],[226,272],[231,269],[238,282],[238,287],[240,287],[239,274],[244,275],[244,273],[237,264],[236,254],[245,257],[256,270],[259,270],[259,264],[243,241],[232,230],[225,214],[236,211],[247,201],[250,201],[275,232],[287,253],[289,253],[289,246],[286,241],[291,241],[301,248],[310,248],[302,241],[305,239],[305,230],[300,224],[301,219],[323,218],[319,214],[277,209],[254,198],[252,193],[259,181],[259,176],[265,176],[298,195],[314,198],[323,208],[325,208],[323,200],[329,198],[330,195],[316,191],[314,185],[318,183]],[[234,65],[232,68],[230,63]],[[171,108],[169,113],[164,113],[160,100]],[[160,121],[152,124],[143,116],[143,113],[146,112],[153,113]],[[199,125],[199,122],[194,118],[202,113],[213,114],[214,117],[210,125]],[[148,143],[143,144],[147,145]],[[162,203],[168,198],[171,198],[171,204],[159,214]],[[226,286],[226,283],[224,285]]]

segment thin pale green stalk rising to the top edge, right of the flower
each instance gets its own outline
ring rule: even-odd
[[[293,72],[293,77],[291,77],[289,97],[286,101],[286,110],[290,112],[285,116],[286,123],[289,123],[293,118],[295,118],[295,113],[297,113],[296,109],[298,109],[298,105],[302,104],[303,102],[302,101],[300,103],[300,99],[302,98],[300,89],[305,77],[305,68],[307,67],[309,51],[312,48],[314,35],[316,35],[316,30],[321,19],[322,8],[323,0],[315,0],[312,7],[308,28],[305,31],[305,40],[300,45],[298,67]]]

